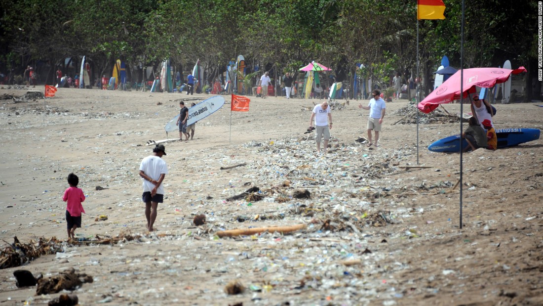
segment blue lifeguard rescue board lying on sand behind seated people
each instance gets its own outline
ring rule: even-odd
[[[539,139],[539,129],[497,129],[498,148],[506,148],[520,145],[528,141]],[[468,142],[462,140],[462,147],[466,148]],[[460,152],[460,135],[453,135],[435,141],[428,150],[432,152]]]

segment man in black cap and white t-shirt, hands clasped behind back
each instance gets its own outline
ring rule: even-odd
[[[145,202],[145,217],[147,229],[153,232],[153,224],[156,220],[156,208],[164,201],[164,186],[162,181],[168,174],[168,165],[162,159],[166,155],[164,145],[156,145],[153,155],[149,155],[141,161],[140,176],[143,178],[142,201]]]

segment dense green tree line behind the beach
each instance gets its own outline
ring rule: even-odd
[[[445,20],[418,24],[421,76],[443,55],[460,68],[461,2],[444,0]],[[0,72],[20,73],[38,61],[54,82],[66,58],[86,55],[98,76],[117,59],[141,82],[144,66],[166,58],[180,71],[197,61],[210,81],[238,54],[249,64],[296,72],[312,60],[339,81],[352,81],[356,64],[368,77],[389,82],[416,73],[416,0],[3,0]],[[540,95],[537,3],[466,1],[464,68],[525,66],[526,98]],[[212,83],[212,82],[210,82]],[[538,84],[539,83],[539,84]],[[535,91],[535,92],[533,92]]]

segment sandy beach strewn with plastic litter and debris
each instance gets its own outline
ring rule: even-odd
[[[178,138],[163,127],[180,99],[207,97],[63,88],[50,99],[0,100],[2,249],[15,236],[55,236],[64,247],[0,270],[0,305],[47,305],[60,294],[17,288],[15,270],[48,277],[72,267],[94,280],[73,291],[80,305],[543,304],[543,141],[463,155],[460,228],[460,155],[426,148],[459,123],[420,124],[417,164],[416,125],[392,125],[405,99],[387,103],[379,147],[355,141],[367,137],[358,103],[368,101],[333,109],[331,152],[318,155],[304,132],[321,101],[250,97],[249,112],[231,113],[224,96],[194,140],[165,143],[165,201],[148,233],[138,176],[146,142]],[[533,103],[495,106],[497,128],[543,126]],[[460,113],[460,104],[444,107]],[[71,172],[87,196],[77,238],[136,239],[66,241]],[[226,201],[253,186],[260,201]],[[199,214],[203,226],[193,224]],[[217,236],[296,224],[306,229]],[[233,280],[244,286],[238,295],[224,291]]]

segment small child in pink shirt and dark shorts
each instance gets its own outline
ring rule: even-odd
[[[79,178],[75,174],[68,174],[68,184],[70,184],[70,188],[64,191],[62,201],[66,202],[68,239],[75,239],[75,229],[81,227],[81,213],[85,213],[83,205],[81,205],[81,202],[85,201],[85,195],[83,194],[83,190],[77,188]]]

